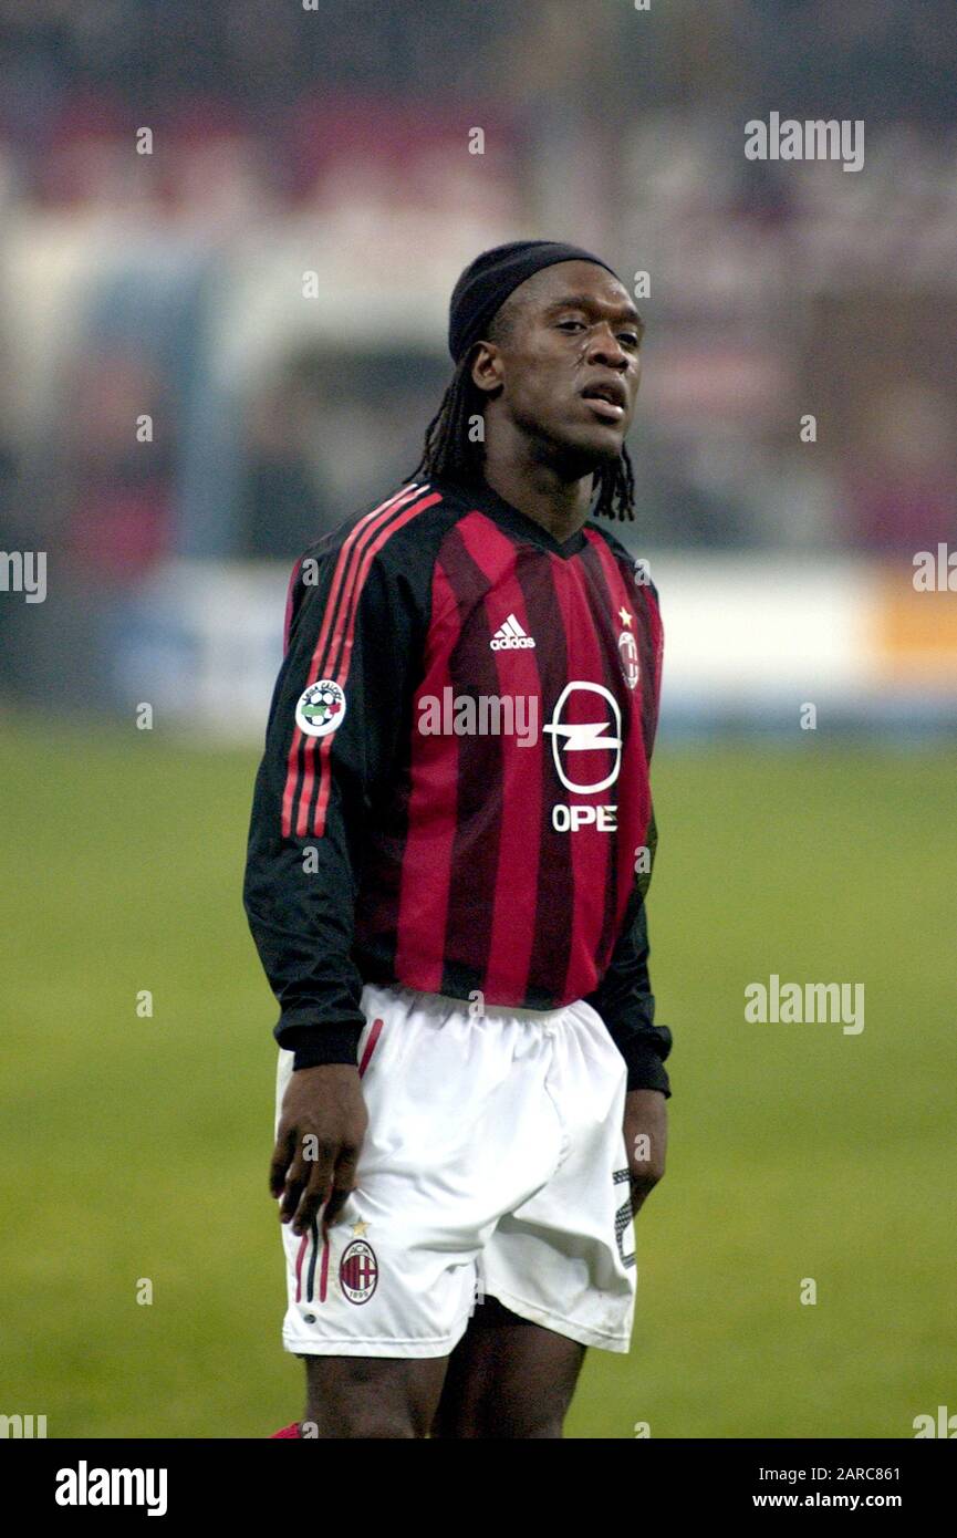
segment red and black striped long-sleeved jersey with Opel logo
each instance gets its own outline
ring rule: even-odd
[[[408,483],[297,561],[245,903],[295,1066],[354,1063],[363,983],[585,998],[671,1094],[645,895],[657,592],[586,523]]]

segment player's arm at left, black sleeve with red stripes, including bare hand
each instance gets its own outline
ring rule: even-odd
[[[243,887],[280,1004],[274,1035],[294,1052],[269,1184],[297,1232],[329,1184],[323,1224],[354,1187],[368,1124],[355,1066],[365,1026],[351,958],[355,892],[369,811],[405,727],[415,644],[403,580],[380,558],[363,568],[340,552],[340,541],[329,541],[300,563],[292,583]],[[325,681],[334,687],[317,687]]]

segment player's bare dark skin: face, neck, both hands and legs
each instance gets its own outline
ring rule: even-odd
[[[486,395],[485,477],[565,543],[586,521],[592,471],[617,458],[634,415],[643,323],[628,291],[592,261],[535,272],[502,306],[495,341],[480,341],[472,381]],[[612,400],[586,398],[602,389]],[[280,1220],[322,1235],[338,1220],[368,1127],[358,1069],[292,1074],[269,1190]],[[634,1213],[665,1173],[668,1115],[654,1089],[625,1097]],[[318,1157],[303,1158],[312,1134]],[[328,1200],[326,1200],[328,1198]],[[325,1206],[323,1206],[325,1203]],[[306,1357],[309,1435],[560,1438],[585,1346],[486,1298],[446,1358]]]

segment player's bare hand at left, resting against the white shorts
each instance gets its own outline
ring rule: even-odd
[[[357,1186],[368,1124],[358,1069],[351,1063],[300,1067],[291,1075],[269,1164],[269,1192],[282,1195],[280,1221],[291,1221],[294,1233],[308,1233],[325,1201],[325,1241]]]

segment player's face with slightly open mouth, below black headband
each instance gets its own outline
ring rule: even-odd
[[[572,469],[614,460],[642,374],[645,328],[628,291],[594,261],[560,261],[514,297],[511,326],[492,349],[499,409]]]

